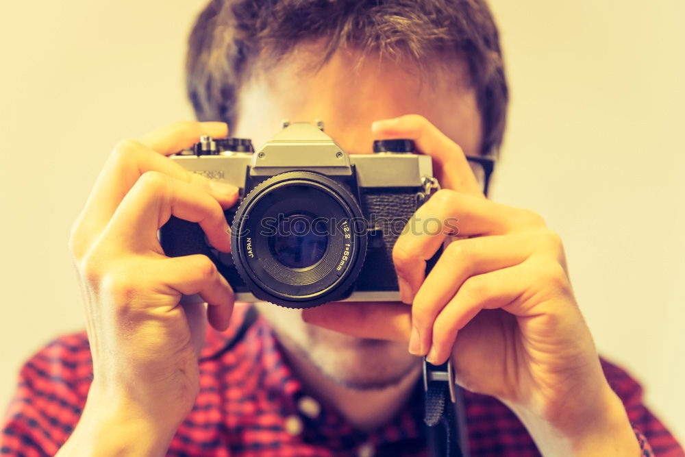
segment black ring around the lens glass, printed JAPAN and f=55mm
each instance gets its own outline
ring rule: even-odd
[[[310,210],[329,219],[328,243],[319,262],[295,269],[273,257],[267,236],[258,229],[279,209]],[[353,226],[361,218],[355,197],[330,177],[310,171],[280,173],[255,186],[240,203],[232,227],[234,264],[253,295],[264,301],[310,308],[343,299],[366,255],[366,234]],[[340,227],[334,225],[336,219],[342,221]]]

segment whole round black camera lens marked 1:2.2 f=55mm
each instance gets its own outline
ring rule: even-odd
[[[343,184],[310,171],[270,177],[243,199],[232,255],[258,299],[310,308],[349,295],[366,256],[362,211]]]

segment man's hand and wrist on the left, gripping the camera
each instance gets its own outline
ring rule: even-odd
[[[206,316],[202,305],[180,306],[179,299],[199,293],[210,323],[225,330],[234,297],[206,256],[164,256],[157,231],[173,214],[199,223],[216,249],[229,251],[222,208],[234,205],[238,189],[189,173],[165,156],[201,135],[226,134],[223,123],[175,123],[120,143],[99,175],[70,240],[94,379],[64,454],[108,455],[127,444],[139,454],[165,454],[195,403]],[[125,434],[100,433],[111,427],[143,438],[127,443]],[[114,449],[102,447],[108,439]]]

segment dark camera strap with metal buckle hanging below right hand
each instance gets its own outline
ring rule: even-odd
[[[468,457],[462,391],[454,383],[452,364],[432,365],[423,358],[427,441],[431,457]]]

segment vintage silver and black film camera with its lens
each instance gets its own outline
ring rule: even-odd
[[[438,189],[431,158],[414,153],[410,140],[377,141],[373,154],[349,155],[321,127],[284,124],[256,153],[250,140],[203,137],[171,156],[237,186],[240,197],[225,211],[231,253],[175,217],[160,229],[164,253],[208,256],[238,301],[310,308],[399,300],[393,246]]]

